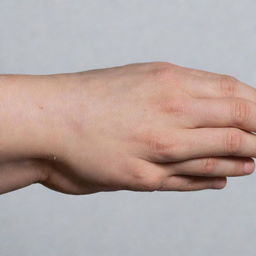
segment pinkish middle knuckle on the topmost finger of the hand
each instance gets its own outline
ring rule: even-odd
[[[219,78],[221,94],[228,97],[235,96],[238,87],[237,82],[238,80],[232,76],[221,75]]]

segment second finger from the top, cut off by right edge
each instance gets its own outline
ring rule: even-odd
[[[192,103],[194,128],[237,127],[256,131],[256,103],[242,98],[197,99]]]

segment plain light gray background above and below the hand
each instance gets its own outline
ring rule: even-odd
[[[162,60],[256,82],[254,0],[0,0],[0,73]],[[0,197],[0,255],[255,255],[255,175],[223,191]]]

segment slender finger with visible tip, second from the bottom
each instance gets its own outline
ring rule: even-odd
[[[255,164],[245,157],[208,157],[165,164],[167,171],[174,175],[232,177],[251,174]]]

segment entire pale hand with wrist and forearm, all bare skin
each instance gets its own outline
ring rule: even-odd
[[[256,156],[256,90],[170,63],[1,75],[0,193],[221,189]]]

